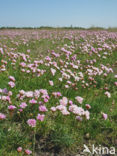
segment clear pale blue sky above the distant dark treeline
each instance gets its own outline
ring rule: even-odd
[[[0,27],[117,27],[117,0],[0,0]]]

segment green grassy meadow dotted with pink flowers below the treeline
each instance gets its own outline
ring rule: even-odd
[[[0,30],[0,156],[117,146],[117,32]]]

